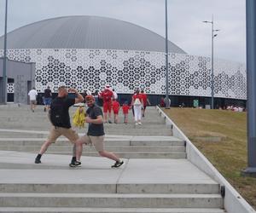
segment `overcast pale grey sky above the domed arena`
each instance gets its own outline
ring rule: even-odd
[[[39,20],[96,15],[125,20],[166,36],[165,0],[9,0],[8,32]],[[0,0],[0,35],[5,0]],[[246,62],[246,0],[168,0],[168,39],[189,55]]]

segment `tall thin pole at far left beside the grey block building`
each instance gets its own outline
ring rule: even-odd
[[[7,74],[6,74],[6,60],[7,60],[7,9],[8,0],[5,0],[5,25],[4,25],[4,44],[3,44],[3,104],[7,103]]]

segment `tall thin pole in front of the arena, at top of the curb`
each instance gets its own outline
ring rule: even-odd
[[[166,0],[166,109],[170,108],[169,102],[169,77],[168,77],[168,19],[167,19],[167,0]]]

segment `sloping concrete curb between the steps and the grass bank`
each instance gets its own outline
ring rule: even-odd
[[[208,159],[189,141],[189,138],[183,134],[177,125],[168,118],[165,112],[160,107],[157,107],[160,116],[165,118],[166,125],[172,129],[173,136],[186,141],[186,153],[188,160],[195,164],[199,169],[207,173],[213,180],[217,181],[221,186],[225,187],[224,196],[224,209],[230,213],[251,213],[256,212],[253,207],[247,203],[245,199],[241,197],[241,194],[236,191],[234,187],[222,176],[218,170],[208,161]]]

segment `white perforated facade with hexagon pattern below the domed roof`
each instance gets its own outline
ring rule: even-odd
[[[3,55],[3,51],[1,52]],[[113,49],[9,49],[10,60],[36,62],[36,87],[54,92],[65,84],[82,92],[101,90],[106,83],[118,93],[143,88],[165,94],[165,55]],[[171,95],[211,96],[211,60],[195,55],[169,55]],[[214,63],[214,96],[246,100],[245,65],[226,60]]]

